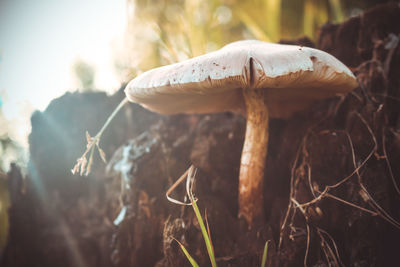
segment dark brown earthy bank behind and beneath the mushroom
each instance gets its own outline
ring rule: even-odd
[[[32,116],[30,169],[9,176],[11,229],[2,266],[210,266],[190,206],[165,193],[191,165],[218,266],[399,266],[400,6],[388,3],[316,44],[357,76],[359,88],[289,120],[270,122],[265,224],[237,219],[245,119],[230,113],[160,116],[124,107],[105,132],[88,177],[70,169],[123,98],[68,93]],[[112,155],[112,157],[111,157]],[[98,157],[97,157],[98,158]],[[183,200],[184,186],[173,197]]]

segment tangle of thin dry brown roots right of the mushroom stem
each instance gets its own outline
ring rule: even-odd
[[[348,147],[350,149],[351,162],[352,162],[354,169],[349,175],[347,175],[346,177],[343,177],[342,179],[340,179],[337,183],[335,183],[333,185],[326,185],[323,190],[318,189],[318,185],[312,179],[312,166],[309,161],[309,156],[310,156],[309,151],[307,150],[307,141],[308,141],[309,136],[313,132],[312,130],[309,130],[307,132],[307,134],[303,137],[303,140],[297,151],[296,158],[292,165],[291,180],[290,180],[290,201],[288,203],[287,211],[286,211],[285,217],[284,217],[282,225],[281,225],[278,253],[279,254],[281,253],[285,234],[288,233],[288,236],[292,237],[292,238],[295,236],[294,231],[297,231],[297,229],[299,227],[294,226],[294,221],[295,221],[297,211],[300,211],[302,216],[305,218],[305,223],[300,228],[303,229],[303,232],[305,232],[307,235],[306,236],[306,249],[305,249],[305,254],[304,254],[304,266],[307,266],[307,259],[310,254],[310,242],[311,242],[310,235],[311,235],[312,231],[316,232],[317,236],[320,239],[320,249],[324,252],[327,263],[333,264],[334,266],[344,266],[340,259],[339,252],[338,252],[339,250],[338,250],[337,244],[334,241],[334,238],[327,231],[325,231],[319,227],[312,227],[309,222],[311,215],[309,214],[309,211],[306,208],[309,206],[318,204],[324,198],[330,198],[332,200],[340,202],[349,207],[352,207],[352,208],[358,209],[362,212],[368,213],[371,216],[380,217],[383,220],[385,220],[386,222],[393,225],[394,227],[400,229],[400,223],[396,219],[394,219],[391,215],[389,215],[389,213],[378,204],[378,202],[372,197],[371,193],[368,191],[366,185],[363,183],[361,169],[367,167],[368,162],[371,160],[373,155],[377,155],[378,143],[377,143],[376,136],[374,135],[371,127],[368,125],[367,121],[362,117],[362,115],[359,113],[354,113],[354,115],[355,115],[355,117],[357,117],[359,119],[359,121],[367,129],[367,131],[370,135],[371,141],[373,143],[373,147],[371,148],[368,155],[361,161],[361,163],[357,164],[356,152],[355,152],[353,141],[352,141],[352,138],[351,138],[349,132],[346,130],[335,131],[336,134],[343,134],[346,137]],[[324,130],[324,131],[319,132],[319,134],[327,134],[327,133],[330,133],[330,131]],[[386,140],[385,140],[384,134],[382,134],[382,138],[383,138],[383,140],[382,140],[382,147],[383,147],[382,158],[384,158],[386,160],[386,166],[390,173],[390,179],[391,179],[392,183],[394,184],[394,187],[395,187],[397,193],[400,194],[400,190],[395,181],[393,171],[392,171],[391,165],[390,165],[390,160],[389,160],[387,152],[386,152],[386,148],[385,148]],[[303,177],[306,179],[304,179]],[[356,179],[355,181],[357,182],[357,184],[360,188],[359,194],[360,194],[361,198],[364,200],[364,202],[367,203],[370,208],[366,208],[359,204],[339,198],[331,193],[331,191],[333,189],[343,187],[350,179],[353,179],[353,180]],[[299,190],[299,184],[302,182],[302,180],[306,181],[308,189],[310,190],[310,193],[313,196],[313,198],[310,201],[305,202],[305,203],[299,203],[299,201],[296,198],[298,190]],[[286,232],[286,230],[288,230],[289,232]]]

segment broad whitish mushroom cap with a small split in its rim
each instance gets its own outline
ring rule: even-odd
[[[245,113],[242,90],[265,89],[271,117],[288,117],[312,101],[357,87],[332,55],[308,47],[238,41],[212,53],[147,71],[125,93],[162,114]]]

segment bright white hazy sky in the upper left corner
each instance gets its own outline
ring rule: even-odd
[[[33,110],[78,88],[78,59],[94,66],[96,89],[118,89],[125,9],[125,0],[0,0],[0,108],[15,140],[26,145]]]

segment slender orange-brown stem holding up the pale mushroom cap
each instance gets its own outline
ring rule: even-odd
[[[246,137],[239,174],[239,217],[251,228],[264,220],[264,168],[268,148],[268,108],[264,89],[245,89]]]

